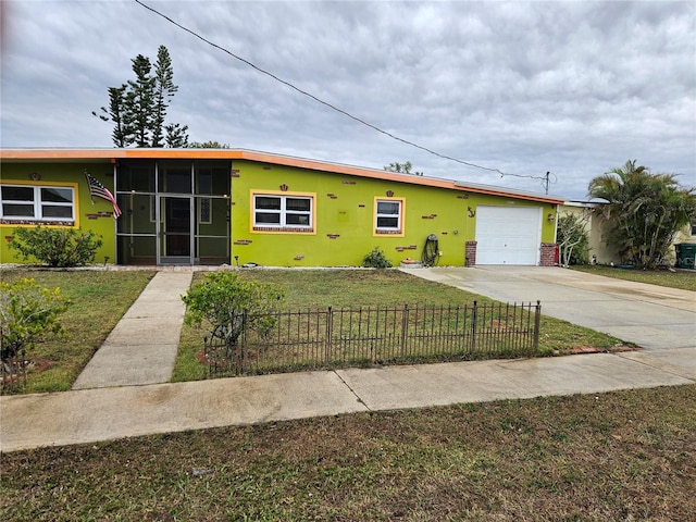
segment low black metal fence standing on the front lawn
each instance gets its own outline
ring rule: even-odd
[[[243,375],[419,361],[530,357],[542,306],[477,303],[277,312],[235,346],[204,344],[210,374]],[[253,323],[252,321],[248,321]]]

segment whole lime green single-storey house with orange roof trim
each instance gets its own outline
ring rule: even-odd
[[[554,264],[561,199],[229,149],[2,149],[0,260],[16,226],[91,228],[97,262],[399,264],[430,235],[439,264]],[[116,197],[90,198],[85,173]],[[432,247],[433,245],[431,245]]]

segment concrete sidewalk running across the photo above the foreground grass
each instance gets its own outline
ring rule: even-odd
[[[644,358],[644,353],[350,369],[3,396],[0,450],[364,411],[696,383],[696,375],[673,363],[689,357],[685,350],[663,350],[662,361]]]

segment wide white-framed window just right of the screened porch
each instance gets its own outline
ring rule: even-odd
[[[313,198],[296,195],[253,195],[254,228],[312,229]]]

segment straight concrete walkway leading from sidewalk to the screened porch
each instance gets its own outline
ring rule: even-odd
[[[192,271],[158,272],[75,381],[73,389],[167,383]]]

